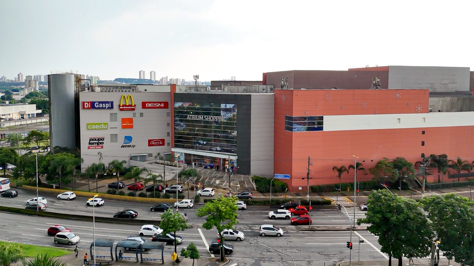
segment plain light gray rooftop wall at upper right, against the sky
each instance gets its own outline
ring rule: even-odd
[[[468,67],[390,66],[388,89],[429,89],[430,92],[469,90]]]

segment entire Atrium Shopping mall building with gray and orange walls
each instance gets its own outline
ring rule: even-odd
[[[261,85],[229,83],[218,90],[133,84],[81,89],[80,76],[55,75],[72,75],[68,83],[78,97],[68,96],[75,101],[69,114],[74,122],[62,121],[68,112],[60,111],[64,90],[50,87],[63,99],[50,95],[51,105],[59,106],[51,112],[52,145],[79,149],[83,168],[98,161],[98,152],[106,164],[118,159],[127,165],[159,152],[213,171],[290,175],[283,180],[290,190],[305,191],[308,160],[310,185],[338,183],[332,168],[354,164],[354,155],[365,169],[384,157],[415,163],[446,153],[474,160],[469,68],[268,72]],[[353,172],[342,177],[353,180]]]

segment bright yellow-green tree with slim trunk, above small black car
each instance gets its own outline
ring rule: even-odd
[[[220,197],[212,202],[206,203],[196,210],[196,216],[206,217],[202,228],[211,230],[216,228],[219,233],[219,243],[224,244],[222,231],[233,229],[237,224],[237,197]],[[220,261],[224,261],[224,248],[220,247]]]

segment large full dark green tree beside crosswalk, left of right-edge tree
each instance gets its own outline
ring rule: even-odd
[[[386,190],[372,191],[367,202],[367,217],[357,223],[371,224],[367,230],[379,237],[380,250],[390,256],[389,266],[392,257],[398,258],[401,266],[403,255],[428,256],[433,230],[419,203]]]

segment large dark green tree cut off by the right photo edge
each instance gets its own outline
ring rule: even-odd
[[[456,195],[433,195],[421,199],[428,219],[433,222],[437,239],[447,259],[461,265],[474,265],[474,202]]]

